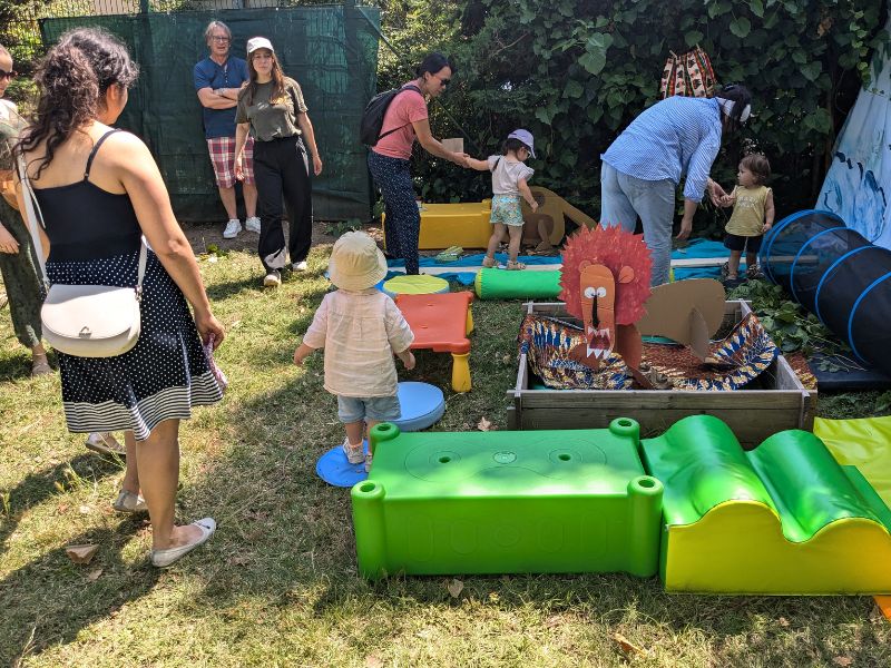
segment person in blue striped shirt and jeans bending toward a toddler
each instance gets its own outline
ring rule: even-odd
[[[684,217],[677,238],[685,239],[705,190],[716,205],[726,195],[708,173],[723,132],[748,119],[751,102],[743,86],[727,86],[711,99],[669,97],[635,118],[600,156],[600,224],[634,232],[640,217],[653,253],[654,286],[668,282],[675,189],[682,175]]]

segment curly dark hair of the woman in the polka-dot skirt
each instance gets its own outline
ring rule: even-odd
[[[100,28],[69,30],[47,52],[35,72],[40,91],[33,124],[16,150],[27,153],[46,140],[35,178],[52,161],[56,149],[78,128],[95,119],[111,86],[129,88],[139,76],[127,47]]]

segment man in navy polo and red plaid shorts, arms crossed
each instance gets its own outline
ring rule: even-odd
[[[235,206],[235,107],[238,91],[248,80],[247,63],[229,56],[232,31],[222,21],[210,21],[204,31],[210,55],[195,66],[195,90],[204,114],[204,136],[214,165],[219,199],[229,216],[223,237],[233,239],[242,232]],[[257,218],[257,188],[254,185],[254,141],[244,146],[244,205],[247,213],[245,227],[260,233]]]

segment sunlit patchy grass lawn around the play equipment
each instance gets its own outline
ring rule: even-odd
[[[29,377],[0,312],[0,665],[891,666],[891,625],[869,597],[668,596],[623,574],[467,577],[458,596],[444,578],[360,579],[349,490],[315,475],[343,438],[322,355],[291,361],[329,252],[275,292],[249,252],[202,263],[231,387],[184,423],[178,515],[219,529],[167,571],[148,563],[147,523],[111,511],[121,462],[67,432],[58,375]],[[448,355],[400,369],[443,387],[437,430],[505,429],[519,303],[473,315],[472,392],[451,392]],[[821,414],[869,415],[877,400],[821,397]],[[72,543],[100,547],[77,566]]]

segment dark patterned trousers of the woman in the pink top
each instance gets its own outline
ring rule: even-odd
[[[405,273],[418,274],[421,213],[414,200],[409,160],[369,151],[369,170],[383,196],[386,253],[405,261]]]

